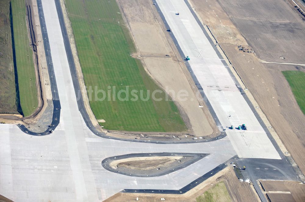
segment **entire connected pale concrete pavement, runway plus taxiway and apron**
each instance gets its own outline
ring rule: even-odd
[[[223,126],[248,125],[212,142],[153,144],[105,139],[91,132],[77,106],[69,63],[54,1],[42,0],[58,95],[60,122],[50,135],[31,136],[16,125],[0,125],[0,193],[16,202],[102,201],[123,189],[179,190],[236,154],[280,159],[183,0],[158,0],[181,49]],[[175,15],[180,12],[180,15]],[[198,57],[198,54],[201,52]],[[199,52],[199,53],[198,53]],[[231,118],[228,118],[231,114]],[[158,177],[110,172],[103,159],[130,153],[209,153],[186,168]]]

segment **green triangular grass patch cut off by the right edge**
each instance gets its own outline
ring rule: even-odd
[[[301,110],[305,114],[305,72],[282,71]]]

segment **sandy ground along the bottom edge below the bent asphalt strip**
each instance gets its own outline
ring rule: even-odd
[[[145,202],[156,202],[160,201],[161,198],[165,198],[166,201],[170,202],[195,202],[196,197],[200,196],[220,181],[225,183],[232,201],[260,201],[256,192],[253,190],[252,185],[245,182],[239,182],[233,169],[227,167],[184,194],[117,193],[107,200],[104,200],[104,202],[136,201],[137,197],[139,198],[138,201]]]

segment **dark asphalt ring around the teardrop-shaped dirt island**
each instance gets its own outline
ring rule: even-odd
[[[209,154],[204,154],[204,153],[170,153],[170,152],[161,152],[161,153],[134,153],[134,154],[125,154],[125,155],[121,155],[121,156],[111,156],[108,157],[104,160],[102,160],[102,166],[103,168],[105,168],[106,170],[113,172],[113,173],[118,173],[118,174],[122,174],[122,175],[127,175],[127,176],[134,176],[134,177],[159,177],[159,176],[163,176],[169,173],[172,173],[174,171],[180,170],[182,168],[185,168],[197,161],[199,161],[200,159],[203,159],[204,157],[208,156]],[[120,160],[120,159],[126,159],[126,158],[133,158],[133,157],[152,157],[152,156],[193,156],[194,158],[192,160],[188,160],[184,163],[181,163],[180,165],[177,166],[173,166],[173,167],[169,167],[166,168],[164,170],[162,170],[159,173],[155,173],[152,175],[140,175],[140,174],[130,174],[130,173],[124,173],[122,171],[118,171],[116,169],[113,169],[112,167],[109,166],[109,163],[111,163],[112,161],[115,160]]]

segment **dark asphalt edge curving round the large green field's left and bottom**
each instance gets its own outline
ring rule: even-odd
[[[41,1],[41,0],[37,0],[37,1]],[[65,45],[65,49],[66,49],[66,54],[67,54],[67,58],[68,58],[68,62],[69,62],[69,67],[70,67],[70,72],[71,72],[71,76],[72,76],[72,81],[73,81],[73,85],[74,85],[74,91],[77,97],[77,105],[78,105],[78,110],[81,112],[81,115],[84,119],[85,124],[87,125],[87,127],[91,130],[91,132],[93,132],[95,135],[102,137],[102,138],[107,138],[107,139],[115,139],[115,140],[121,140],[121,141],[128,141],[128,142],[146,142],[146,143],[156,143],[156,144],[178,144],[178,143],[198,143],[198,142],[211,142],[211,141],[215,141],[218,139],[221,139],[223,137],[226,136],[226,134],[224,132],[221,132],[220,135],[218,135],[217,137],[214,138],[210,138],[210,139],[194,139],[194,138],[189,138],[189,139],[174,139],[174,138],[170,138],[169,140],[157,140],[157,139],[150,139],[150,140],[144,140],[144,139],[123,139],[123,138],[117,138],[117,137],[113,137],[113,136],[108,136],[106,135],[106,133],[100,132],[97,128],[95,128],[95,126],[92,124],[89,115],[84,107],[84,100],[81,94],[81,89],[80,89],[80,84],[77,78],[77,71],[76,71],[76,67],[75,67],[75,63],[74,63],[74,58],[73,58],[73,54],[71,51],[71,46],[70,46],[70,42],[69,42],[69,36],[67,34],[66,31],[66,25],[64,22],[64,18],[63,18],[63,12],[62,12],[62,8],[60,5],[60,1],[59,0],[55,0],[55,5],[56,5],[56,9],[57,9],[57,14],[58,14],[58,18],[59,18],[59,23],[60,23],[60,27],[61,27],[61,31],[63,34],[63,41],[64,41],[64,45]],[[203,93],[203,92],[202,92]],[[215,114],[215,113],[214,113]],[[215,119],[216,121],[218,121],[218,118]],[[219,122],[219,121],[218,121]],[[174,134],[176,135],[176,134]]]

